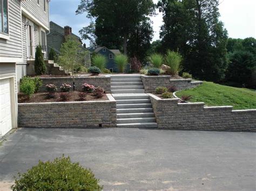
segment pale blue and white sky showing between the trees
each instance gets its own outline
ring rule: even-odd
[[[153,0],[157,3],[158,0]],[[79,0],[52,0],[50,1],[50,20],[60,26],[69,25],[72,32],[79,36],[79,30],[89,25],[90,20],[86,13],[76,15],[75,11]],[[256,38],[256,0],[220,0],[220,20],[224,23],[231,38]],[[163,24],[161,13],[151,17],[153,22],[154,38],[159,39],[160,26]],[[89,45],[88,41],[85,41]]]

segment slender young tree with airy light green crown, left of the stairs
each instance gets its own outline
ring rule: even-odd
[[[85,52],[80,43],[73,37],[67,37],[60,48],[58,64],[73,77],[73,90],[75,90],[75,76],[77,70],[84,63]]]

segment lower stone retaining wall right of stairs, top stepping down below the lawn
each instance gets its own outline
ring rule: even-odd
[[[256,109],[232,110],[232,106],[206,107],[205,103],[178,103],[149,94],[158,128],[256,132]]]

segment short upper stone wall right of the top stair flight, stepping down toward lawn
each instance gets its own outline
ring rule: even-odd
[[[202,84],[202,81],[192,81],[192,79],[172,80],[171,76],[146,76],[142,75],[142,81],[146,93],[153,93],[159,86],[170,87],[175,86],[177,90],[194,88]]]

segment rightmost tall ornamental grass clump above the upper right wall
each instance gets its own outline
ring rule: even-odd
[[[177,75],[181,70],[180,63],[182,56],[178,52],[167,51],[165,56],[165,64],[170,68],[167,70],[171,75]]]

